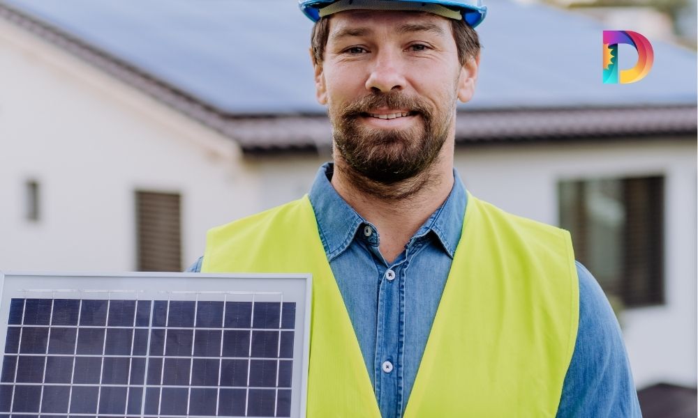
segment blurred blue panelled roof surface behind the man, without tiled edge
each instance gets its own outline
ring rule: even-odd
[[[324,114],[295,0],[0,0],[228,114]],[[696,54],[651,37],[651,72],[602,83],[602,31],[580,13],[487,0],[475,97],[463,109],[695,104]],[[205,4],[205,6],[202,6]],[[263,6],[260,6],[262,5]],[[646,33],[648,35],[648,33]],[[625,48],[627,47],[627,48]],[[622,68],[637,52],[621,45]]]

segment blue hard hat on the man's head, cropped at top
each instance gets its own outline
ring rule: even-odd
[[[332,3],[336,3],[339,0],[298,0],[298,6],[301,9],[301,11],[309,17],[310,20],[313,22],[317,22],[320,20],[320,9],[324,8],[325,6],[329,6]],[[358,3],[359,1],[357,1]],[[362,3],[364,3],[362,1]],[[487,6],[482,6],[482,0],[422,0],[422,1],[415,1],[415,0],[373,0],[373,3],[395,3],[395,2],[400,2],[400,3],[411,3],[413,5],[415,4],[421,4],[422,6],[433,6],[433,5],[438,5],[438,6],[443,6],[445,8],[449,9],[454,9],[457,10],[458,13],[460,13],[463,16],[463,20],[470,26],[470,27],[475,27],[482,20],[484,20],[485,15],[487,15]],[[350,1],[351,3],[351,1]],[[362,8],[372,8],[371,6],[366,6]],[[400,10],[399,6],[396,7],[394,10]],[[410,8],[410,10],[415,10],[414,8]],[[437,13],[438,14],[438,13]]]

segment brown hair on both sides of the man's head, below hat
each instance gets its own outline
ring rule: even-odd
[[[313,26],[311,48],[315,65],[324,61],[325,47],[327,46],[327,38],[329,38],[329,17],[331,16],[320,17],[320,20],[315,22],[315,26]],[[458,49],[458,60],[463,65],[480,52],[480,38],[478,38],[475,29],[468,26],[464,20],[450,19],[450,21],[451,31]]]

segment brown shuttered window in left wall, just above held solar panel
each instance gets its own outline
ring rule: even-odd
[[[138,270],[181,271],[179,194],[136,192]]]

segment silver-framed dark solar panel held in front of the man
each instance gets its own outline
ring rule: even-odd
[[[305,415],[309,275],[1,278],[0,418]]]

